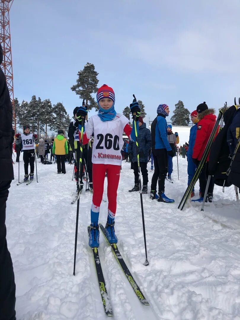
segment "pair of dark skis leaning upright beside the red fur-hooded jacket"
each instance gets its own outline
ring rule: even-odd
[[[224,112],[226,110],[227,110],[227,102],[224,105],[224,107],[219,110],[218,118],[216,120],[216,123],[215,123],[213,129],[212,129],[212,133],[211,133],[211,135],[209,137],[209,140],[207,142],[207,145],[206,145],[206,148],[204,150],[203,156],[202,156],[202,158],[201,158],[201,160],[200,160],[200,162],[199,162],[199,164],[197,166],[197,169],[195,171],[195,174],[194,174],[194,176],[193,176],[188,188],[186,189],[186,191],[185,191],[185,193],[184,193],[184,195],[183,195],[183,197],[182,197],[182,199],[180,201],[180,204],[178,206],[178,209],[180,209],[180,207],[181,207],[180,210],[182,210],[184,208],[189,196],[191,195],[191,191],[192,191],[193,187],[195,186],[197,179],[200,176],[200,173],[201,173],[201,171],[203,169],[203,166],[206,163],[206,159],[207,159],[207,156],[209,154],[210,148],[212,146],[213,139],[214,139],[215,134],[216,134],[216,132],[218,130],[218,125],[219,125],[220,121],[222,122],[223,114],[224,114]]]

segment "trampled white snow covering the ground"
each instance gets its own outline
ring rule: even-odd
[[[22,154],[20,180],[23,179]],[[240,204],[234,188],[215,186],[214,201],[177,209],[187,186],[187,160],[173,158],[174,184],[165,193],[175,204],[143,195],[149,266],[145,267],[140,195],[130,163],[123,162],[118,190],[118,247],[150,306],[142,306],[100,234],[100,260],[115,319],[240,319]],[[76,184],[73,165],[38,165],[38,180],[16,186],[7,201],[7,240],[16,281],[18,320],[105,319],[92,252],[88,247],[91,194],[81,195],[76,276],[73,276]],[[148,164],[150,168],[150,164]],[[150,170],[149,170],[150,171]],[[35,171],[36,172],[36,171]],[[149,189],[153,172],[149,172]],[[198,186],[196,186],[198,190]],[[104,198],[107,199],[106,190]],[[107,219],[102,202],[100,222]]]

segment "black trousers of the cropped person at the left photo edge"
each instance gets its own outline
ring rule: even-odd
[[[6,201],[11,181],[0,181],[0,319],[15,318],[15,281],[6,240]]]

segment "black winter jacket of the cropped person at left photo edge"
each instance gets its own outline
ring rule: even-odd
[[[0,63],[3,61],[3,49],[0,44]],[[0,69],[0,181],[13,180],[12,143],[12,103],[5,75]]]

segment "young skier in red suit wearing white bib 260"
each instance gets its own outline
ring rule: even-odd
[[[108,218],[105,226],[105,234],[110,244],[117,243],[114,230],[116,214],[117,188],[120,178],[122,163],[121,150],[124,144],[123,132],[132,141],[135,141],[134,127],[128,124],[129,120],[122,114],[116,113],[115,93],[111,87],[104,84],[97,92],[99,111],[91,116],[85,124],[83,144],[87,144],[94,132],[94,144],[92,148],[92,180],[94,185],[91,206],[91,229],[89,232],[89,246],[99,247],[99,211],[103,195],[105,173],[108,180]],[[136,126],[138,131],[138,118],[140,108],[138,102],[130,105],[132,114],[136,113]],[[80,107],[77,111],[79,119],[79,137],[81,137],[81,117],[87,115],[86,107]]]

